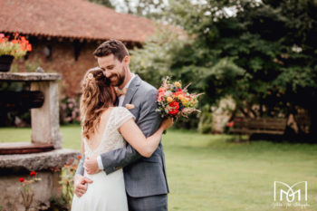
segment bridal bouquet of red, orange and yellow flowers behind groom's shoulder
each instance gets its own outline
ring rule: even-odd
[[[187,87],[182,89],[181,82],[170,82],[167,77],[159,87],[158,103],[159,111],[162,118],[172,117],[178,120],[179,116],[186,117],[187,115],[200,110],[196,109],[198,100],[197,97],[201,94],[188,93]]]

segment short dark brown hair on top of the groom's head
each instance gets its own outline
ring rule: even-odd
[[[122,62],[125,56],[129,56],[126,46],[119,40],[109,40],[101,43],[93,53],[96,57],[107,56],[110,54],[113,54],[120,62]]]

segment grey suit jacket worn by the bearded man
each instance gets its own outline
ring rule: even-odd
[[[156,111],[158,91],[138,75],[130,82],[129,90],[122,106],[133,104],[130,112],[146,137],[152,135],[160,125],[159,112]],[[125,148],[101,154],[104,171],[110,174],[123,168],[126,191],[130,197],[149,197],[168,194],[165,170],[165,156],[161,143],[150,158],[143,158],[130,144]],[[77,172],[83,175],[83,158]],[[107,187],[105,187],[107,188]]]

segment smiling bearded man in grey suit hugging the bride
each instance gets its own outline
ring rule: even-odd
[[[146,137],[152,135],[161,121],[159,112],[156,111],[158,91],[130,72],[130,56],[125,45],[120,41],[110,40],[101,43],[93,54],[111,85],[123,93],[116,105],[133,105],[128,106],[132,108],[130,112],[135,116],[139,129]],[[164,157],[163,147],[159,143],[158,149],[150,158],[141,157],[129,144],[125,148],[103,153],[97,158],[82,158],[74,178],[75,194],[81,197],[86,192],[88,183],[93,182],[83,177],[83,166],[89,174],[104,170],[107,175],[123,168],[130,211],[168,210]]]

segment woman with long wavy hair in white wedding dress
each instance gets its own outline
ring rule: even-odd
[[[97,157],[106,151],[123,148],[125,140],[140,155],[149,158],[157,149],[161,135],[173,120],[162,120],[159,129],[146,138],[124,107],[113,107],[114,87],[100,69],[86,72],[82,80],[82,154]],[[125,140],[124,140],[125,139]],[[73,196],[72,211],[128,211],[122,169],[106,175],[104,171],[84,176],[92,180],[82,197]]]

